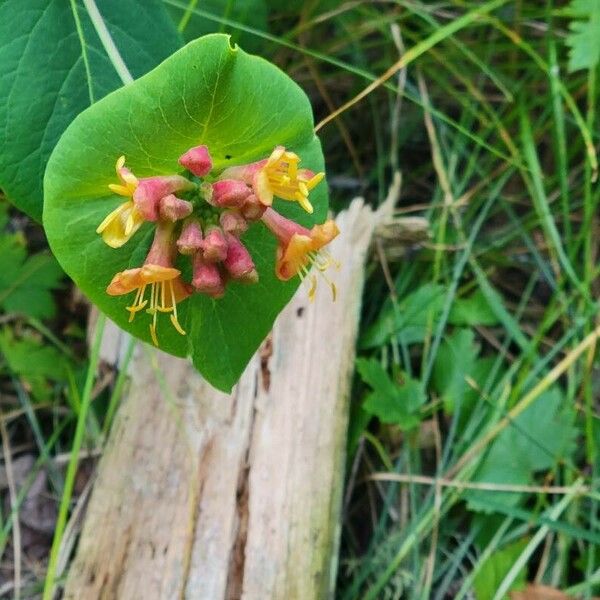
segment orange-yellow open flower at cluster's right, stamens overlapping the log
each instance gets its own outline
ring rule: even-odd
[[[336,297],[335,284],[325,275],[330,267],[339,267],[337,261],[323,250],[338,234],[339,229],[335,221],[328,219],[321,225],[315,225],[307,229],[290,219],[268,208],[262,216],[263,223],[273,232],[278,241],[275,273],[282,281],[287,281],[295,275],[304,280],[309,275],[311,266],[318,269],[319,274],[327,281],[331,288],[333,299]],[[309,297],[311,300],[317,286],[317,278],[310,276],[311,288]]]

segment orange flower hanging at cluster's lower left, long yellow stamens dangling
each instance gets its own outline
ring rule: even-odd
[[[129,321],[133,321],[135,315],[147,307],[146,312],[152,315],[150,335],[155,346],[158,346],[156,326],[159,312],[170,313],[173,327],[178,333],[185,335],[177,317],[177,303],[190,295],[191,287],[181,280],[181,271],[173,267],[173,228],[172,223],[159,223],[144,264],[117,273],[106,288],[106,293],[110,296],[136,292],[133,303],[127,307]],[[149,298],[146,298],[148,288]]]

